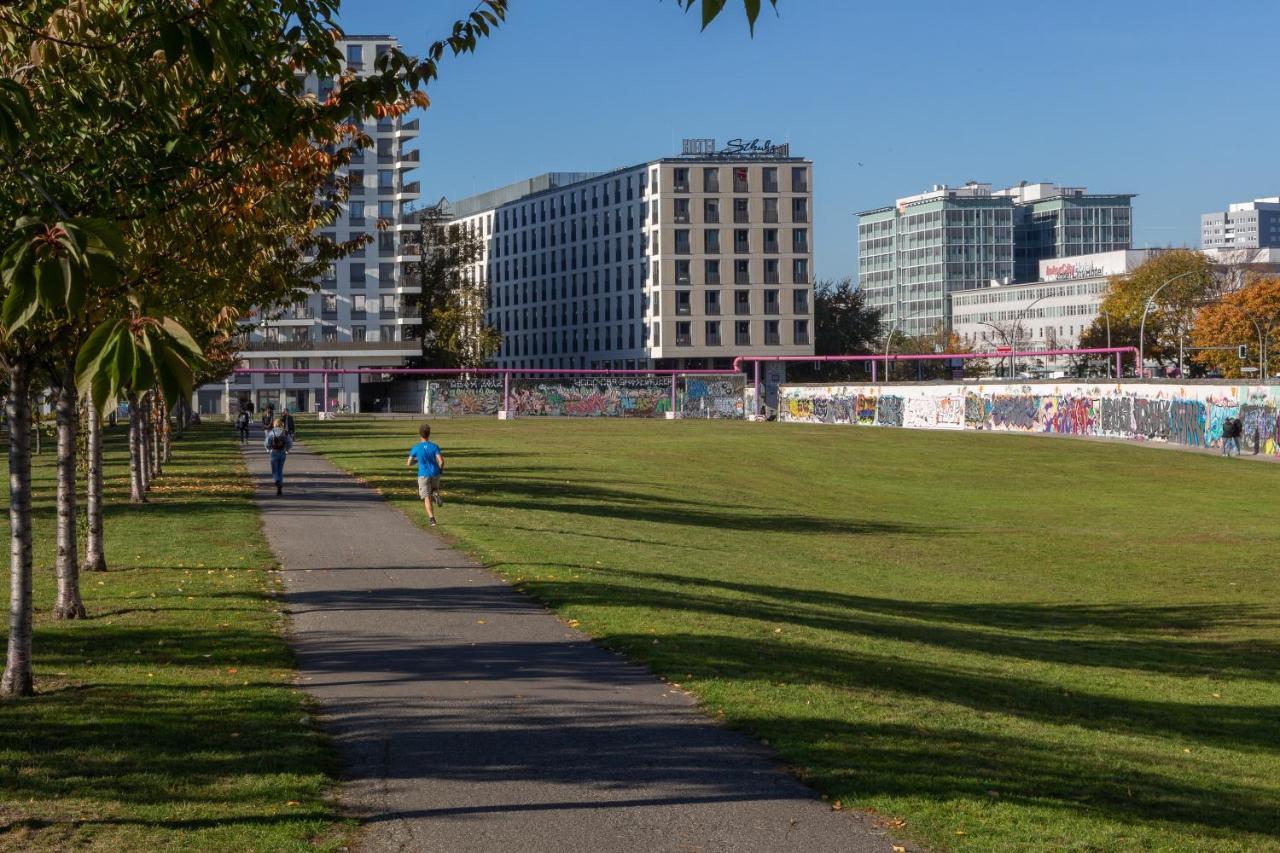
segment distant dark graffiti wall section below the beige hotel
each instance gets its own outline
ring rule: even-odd
[[[682,418],[742,418],[744,377],[680,377]],[[671,411],[669,377],[512,379],[508,406],[517,418],[663,418]],[[431,382],[433,415],[495,415],[503,405],[500,377]]]

